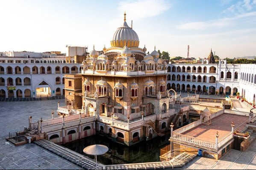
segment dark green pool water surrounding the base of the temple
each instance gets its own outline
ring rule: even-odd
[[[190,123],[196,120],[198,120],[198,117],[190,116],[189,118]],[[129,164],[160,161],[160,150],[170,144],[170,141],[168,141],[169,138],[170,133],[162,137],[154,138],[151,141],[142,141],[138,144],[132,145],[131,147],[126,147],[122,144],[112,142],[110,138],[94,135],[64,144],[63,146],[87,156],[82,151],[85,147],[93,144],[102,144],[109,147],[109,151],[102,156],[97,156],[97,160],[100,163],[106,165]],[[92,156],[88,157],[92,159],[94,158]]]

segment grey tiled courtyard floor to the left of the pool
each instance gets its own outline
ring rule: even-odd
[[[6,142],[9,132],[17,132],[28,126],[28,117],[32,122],[40,118],[51,119],[51,110],[55,111],[63,106],[65,100],[26,101],[26,102],[0,102],[0,169],[79,169],[70,162],[49,153],[35,144],[25,144],[15,147]]]

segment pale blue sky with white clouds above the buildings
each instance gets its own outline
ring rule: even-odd
[[[170,56],[256,55],[256,0],[1,0],[0,51],[102,50],[133,20],[140,47]]]

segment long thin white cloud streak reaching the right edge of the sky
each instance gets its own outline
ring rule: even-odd
[[[256,12],[249,12],[245,14],[236,15],[235,17],[221,18],[218,20],[210,20],[206,22],[185,23],[177,26],[177,28],[182,30],[203,30],[209,28],[223,28],[234,24],[235,20],[252,16],[256,16]]]

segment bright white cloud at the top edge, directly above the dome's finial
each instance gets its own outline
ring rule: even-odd
[[[129,17],[141,19],[162,14],[171,7],[167,0],[125,0],[119,3],[119,12],[126,11]]]

